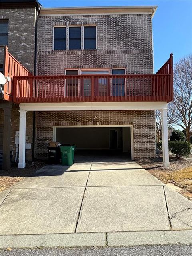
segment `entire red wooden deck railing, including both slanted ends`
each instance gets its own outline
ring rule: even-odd
[[[6,51],[6,100],[26,102],[143,102],[173,100],[173,56],[156,74],[32,76]]]

